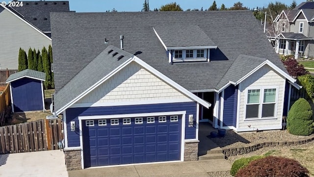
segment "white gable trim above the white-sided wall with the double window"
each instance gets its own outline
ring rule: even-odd
[[[272,62],[270,62],[269,60],[266,60],[264,62],[262,62],[259,66],[257,66],[256,68],[254,68],[252,71],[250,71],[248,74],[246,74],[245,76],[243,76],[242,78],[240,78],[239,80],[237,80],[236,82],[233,81],[229,81],[227,84],[225,84],[223,87],[221,87],[218,91],[219,93],[221,91],[223,91],[225,88],[227,88],[229,85],[233,84],[233,85],[238,85],[239,83],[241,83],[243,80],[245,80],[247,77],[251,76],[252,74],[254,74],[255,72],[257,72],[259,69],[261,69],[263,66],[268,65],[269,67],[271,67],[273,70],[277,71],[281,76],[284,76],[286,79],[289,80],[289,83],[291,85],[293,85],[294,87],[296,87],[297,89],[302,88],[302,86],[298,85],[296,83],[296,79],[292,78],[291,76],[289,76],[287,73],[285,73],[283,70],[281,70],[280,68],[278,68],[278,66],[274,65]]]

